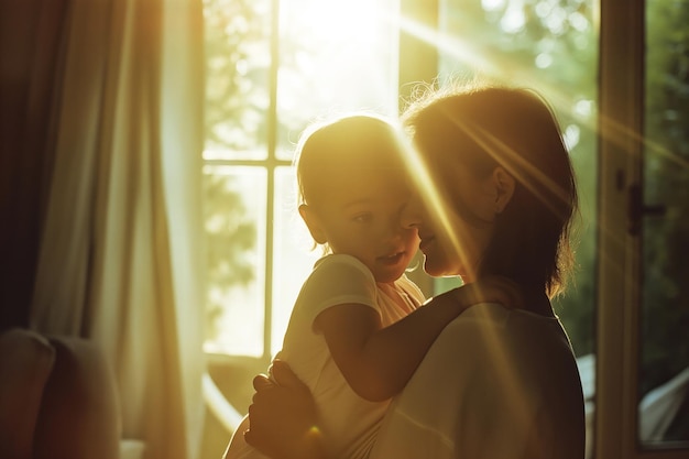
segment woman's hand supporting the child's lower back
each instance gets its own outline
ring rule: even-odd
[[[263,374],[253,380],[244,439],[273,459],[325,459],[310,391],[281,360],[273,362],[271,374],[274,381]]]

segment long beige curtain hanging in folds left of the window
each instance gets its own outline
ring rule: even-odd
[[[198,457],[201,0],[73,0],[32,327],[111,359],[123,437]]]

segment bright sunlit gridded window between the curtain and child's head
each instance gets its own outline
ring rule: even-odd
[[[206,350],[267,363],[318,255],[291,168],[318,116],[397,110],[394,0],[206,0]]]

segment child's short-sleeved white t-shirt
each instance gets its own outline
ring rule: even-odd
[[[327,445],[332,457],[368,457],[390,401],[369,402],[354,393],[332,360],[324,336],[314,329],[314,320],[329,307],[361,304],[380,313],[383,327],[392,325],[425,299],[404,275],[395,281],[395,287],[403,300],[395,300],[379,288],[371,271],[354,256],[330,254],[316,262],[292,312],[283,348],[276,357],[286,361],[310,389],[324,436],[333,441]],[[234,441],[243,444],[243,436],[233,438]],[[245,444],[237,449],[232,445],[230,451],[231,459],[264,457]]]

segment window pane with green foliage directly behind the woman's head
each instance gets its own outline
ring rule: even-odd
[[[554,306],[578,357],[590,457],[595,389],[598,2],[441,0],[439,4],[441,81],[481,75],[532,87],[553,105],[562,128],[577,173],[582,230],[576,280]]]

